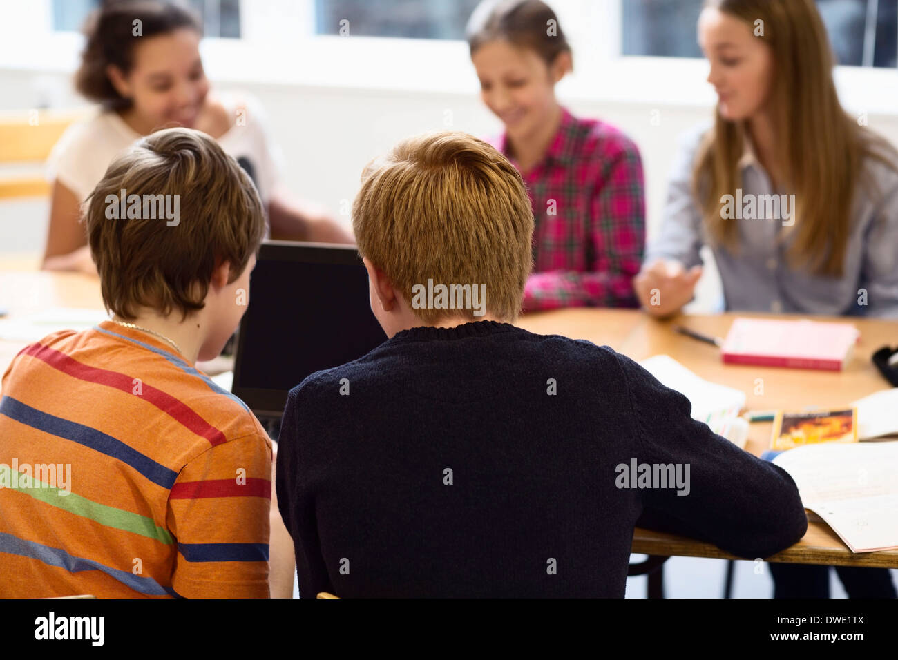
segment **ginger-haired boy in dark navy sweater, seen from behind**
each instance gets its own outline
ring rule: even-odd
[[[353,223],[390,339],[290,392],[276,485],[302,596],[621,597],[638,520],[750,559],[805,534],[788,474],[682,394],[510,324],[533,214],[491,146],[404,141]]]

